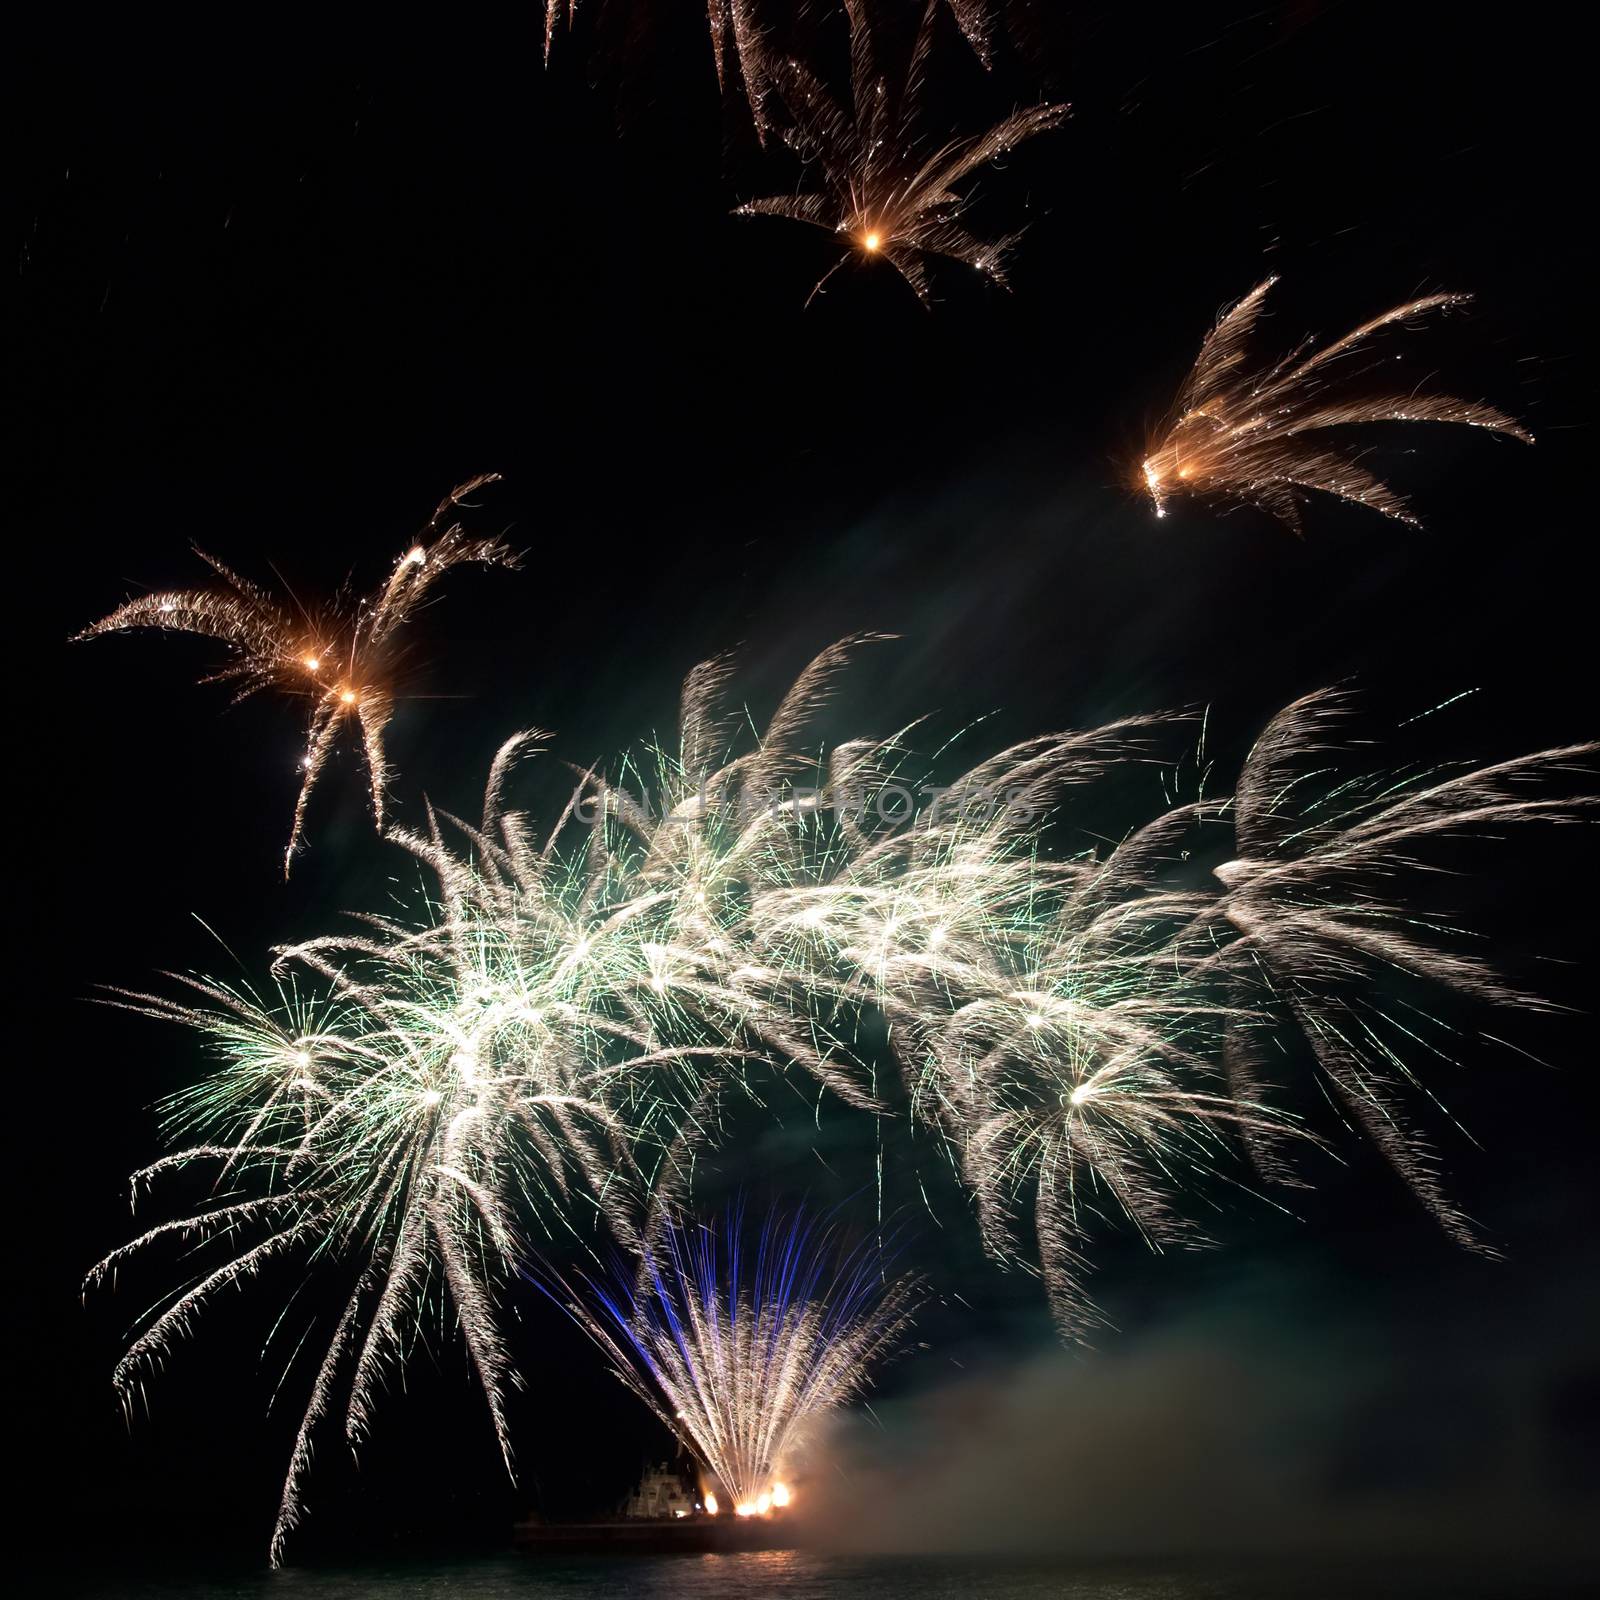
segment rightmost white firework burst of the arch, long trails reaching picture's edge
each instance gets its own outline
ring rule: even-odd
[[[1443,1050],[1421,1037],[1424,1011],[1386,997],[1397,979],[1419,979],[1491,1005],[1549,1006],[1507,984],[1491,962],[1456,949],[1461,930],[1400,899],[1397,880],[1437,870],[1429,851],[1440,842],[1498,837],[1533,821],[1582,821],[1595,806],[1600,744],[1488,766],[1341,779],[1333,763],[1344,750],[1338,733],[1350,709],[1344,691],[1307,694],[1278,712],[1250,750],[1234,798],[1221,808],[1232,819],[1237,854],[1216,867],[1222,893],[1202,914],[1218,949],[1195,976],[1224,971],[1234,974],[1235,994],[1253,995],[1254,1019],[1227,1040],[1235,1096],[1262,1091],[1272,1035],[1261,1019],[1286,1014],[1334,1102],[1456,1242],[1485,1250],[1406,1115],[1408,1093],[1434,1101],[1411,1059]],[[1587,779],[1590,792],[1552,792],[1571,778]]]

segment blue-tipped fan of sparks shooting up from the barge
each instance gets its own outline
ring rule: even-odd
[[[720,1234],[670,1222],[632,1282],[536,1282],[699,1462],[707,1512],[762,1517],[790,1502],[816,1424],[894,1354],[917,1288],[803,1213],[765,1221],[754,1264],[741,1235],[738,1210]]]

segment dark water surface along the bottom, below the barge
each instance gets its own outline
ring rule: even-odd
[[[53,1592],[64,1592],[53,1587]],[[1443,1574],[1437,1568],[1126,1568],[978,1557],[822,1555],[763,1550],[616,1560],[499,1557],[278,1573],[102,1578],[104,1600],[1550,1600],[1584,1594],[1549,1573]]]

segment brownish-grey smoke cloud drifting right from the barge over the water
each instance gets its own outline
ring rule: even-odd
[[[1600,1526],[1592,1355],[1566,1320],[1450,1315],[1374,1326],[1240,1285],[1144,1338],[990,1363],[837,1422],[810,1517],[859,1552],[1574,1558]]]

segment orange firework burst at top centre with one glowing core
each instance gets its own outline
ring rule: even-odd
[[[874,40],[859,0],[846,6],[851,30],[851,102],[842,107],[800,61],[768,66],[792,126],[786,138],[814,165],[821,187],[797,195],[771,195],[739,206],[739,216],[781,216],[840,235],[854,258],[886,261],[926,304],[926,262],[946,256],[1005,282],[1005,259],[1016,235],[981,240],[962,224],[968,195],[963,184],[989,162],[1067,115],[1066,106],[1032,106],[995,123],[987,133],[957,138],[926,150],[920,139],[922,78],[933,42],[934,8],[923,14],[904,77],[891,83],[875,59]],[[970,8],[963,8],[970,10]],[[811,294],[838,266],[829,269]]]

